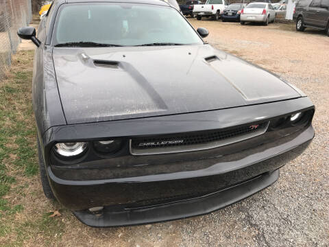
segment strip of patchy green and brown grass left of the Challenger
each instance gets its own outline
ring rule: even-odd
[[[33,56],[19,51],[0,81],[0,246],[56,246],[66,227],[62,216],[49,217],[60,205],[45,200],[37,177]]]

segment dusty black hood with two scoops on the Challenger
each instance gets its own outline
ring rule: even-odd
[[[67,124],[193,113],[300,97],[210,45],[53,49]]]

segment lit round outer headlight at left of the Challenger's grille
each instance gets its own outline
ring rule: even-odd
[[[71,158],[83,154],[86,151],[87,143],[57,143],[53,146],[53,150],[60,156]]]

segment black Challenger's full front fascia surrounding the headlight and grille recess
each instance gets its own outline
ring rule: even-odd
[[[265,132],[220,148],[92,159],[56,166],[53,143],[216,130],[311,109],[306,98],[204,113],[57,126],[43,136],[45,165],[57,200],[90,226],[121,226],[208,213],[271,185],[282,165],[314,137],[311,125]],[[247,120],[251,119],[251,120]],[[147,128],[145,128],[147,126]],[[293,132],[291,132],[293,130]],[[79,139],[77,139],[79,137]],[[103,214],[88,212],[104,207]]]

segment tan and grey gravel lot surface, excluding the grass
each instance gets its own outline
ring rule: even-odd
[[[160,224],[90,228],[66,215],[58,246],[329,246],[329,37],[293,25],[196,21],[219,49],[280,74],[316,106],[316,136],[271,187],[226,209]],[[40,187],[40,185],[38,185]],[[73,230],[74,229],[74,230]],[[30,242],[29,244],[34,244]]]

